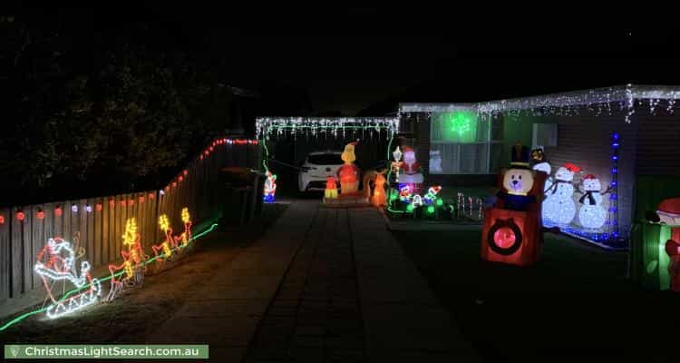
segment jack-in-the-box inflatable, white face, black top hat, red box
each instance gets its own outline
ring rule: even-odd
[[[545,172],[529,169],[529,148],[512,149],[510,169],[499,173],[498,201],[484,212],[481,259],[529,266],[539,260]]]

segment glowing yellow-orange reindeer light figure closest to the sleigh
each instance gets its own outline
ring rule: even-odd
[[[144,273],[146,273],[146,260],[149,256],[144,254],[141,249],[141,236],[137,233],[137,222],[134,218],[129,219],[125,223],[125,233],[122,235],[122,244],[127,246],[128,250],[121,250],[122,264],[109,265],[111,272],[111,289],[106,296],[105,301],[112,301],[118,294],[122,292],[123,286],[141,285],[144,281]],[[122,274],[116,276],[116,271],[121,270]],[[117,279],[121,277],[121,279]]]

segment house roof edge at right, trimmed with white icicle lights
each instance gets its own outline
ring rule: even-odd
[[[478,113],[529,110],[543,107],[569,107],[595,103],[623,103],[632,108],[635,100],[658,102],[680,99],[680,86],[626,84],[567,93],[551,93],[481,103],[399,103],[400,113],[451,112],[474,110]]]

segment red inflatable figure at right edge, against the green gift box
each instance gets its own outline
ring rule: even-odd
[[[671,238],[665,241],[668,254],[668,274],[671,278],[670,289],[680,292],[680,198],[669,198],[659,203],[655,211],[647,211],[646,219],[671,227]]]

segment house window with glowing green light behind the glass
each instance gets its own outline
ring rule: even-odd
[[[432,113],[430,173],[489,174],[498,169],[502,121],[473,111]]]

